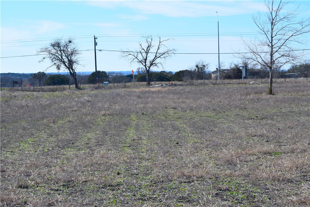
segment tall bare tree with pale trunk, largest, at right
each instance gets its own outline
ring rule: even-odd
[[[243,43],[249,53],[239,53],[239,57],[268,67],[270,79],[267,94],[272,94],[272,75],[283,65],[304,61],[309,51],[300,48],[305,42],[301,39],[309,33],[309,18],[298,19],[298,7],[287,11],[289,1],[265,1],[266,13],[253,15],[259,37]],[[308,49],[308,48],[307,48]],[[309,56],[308,56],[309,58]]]

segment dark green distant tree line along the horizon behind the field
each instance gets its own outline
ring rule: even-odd
[[[199,64],[200,63],[200,66]],[[203,79],[211,79],[211,73],[209,70],[206,70],[207,64],[202,61],[196,62],[195,65],[188,67],[186,70],[179,70],[175,73],[160,71],[160,72],[150,72],[149,80],[151,82],[194,82],[197,80]],[[201,67],[205,65],[205,68]],[[224,64],[223,64],[224,65]],[[224,68],[224,66],[221,66]],[[221,79],[242,79],[242,70],[240,69],[240,65],[248,65],[246,79],[267,79],[269,78],[269,69],[267,67],[258,68],[256,65],[250,65],[247,63],[240,64],[231,64],[228,69],[225,69],[226,72],[221,73]],[[202,70],[201,70],[202,68]],[[198,70],[199,69],[199,70]],[[274,78],[294,78],[294,74],[296,72],[297,78],[305,78],[306,73],[308,73],[308,77],[310,75],[310,62],[305,62],[299,65],[292,65],[288,70],[276,70],[274,71]],[[146,82],[146,72],[142,67],[137,68],[135,76],[135,82]],[[286,75],[285,74],[290,74]],[[97,71],[98,83],[102,84],[103,82],[109,82],[109,84],[119,84],[119,83],[131,83],[133,82],[132,74],[124,75],[122,73],[117,72],[106,72],[106,71]],[[73,85],[74,80],[69,74],[46,74],[45,72],[38,72],[34,74],[18,74],[18,73],[2,73],[1,81],[9,81],[12,80],[19,81],[23,79],[23,83],[30,83],[35,86],[53,86],[53,85]],[[85,75],[78,74],[77,75],[78,84],[95,84],[95,72]]]

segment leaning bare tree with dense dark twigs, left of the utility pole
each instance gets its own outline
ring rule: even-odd
[[[55,66],[58,71],[60,71],[62,67],[64,70],[67,70],[74,80],[75,88],[79,88],[76,66],[80,65],[80,59],[78,57],[80,52],[73,43],[72,38],[66,40],[61,38],[55,39],[48,46],[40,48],[37,53],[44,54],[39,62],[42,62],[45,59],[51,61],[51,65],[48,68]]]

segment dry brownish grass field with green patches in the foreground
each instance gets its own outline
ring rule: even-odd
[[[310,83],[1,91],[1,206],[309,206]]]

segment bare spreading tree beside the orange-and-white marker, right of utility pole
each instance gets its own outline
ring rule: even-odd
[[[170,40],[161,40],[159,37],[158,45],[153,44],[152,36],[144,37],[145,43],[139,42],[139,50],[135,52],[132,51],[122,51],[121,57],[126,59],[132,64],[137,62],[145,68],[146,72],[146,85],[151,85],[149,73],[152,67],[162,67],[164,61],[175,54],[175,49],[169,49],[166,47],[164,42]]]

